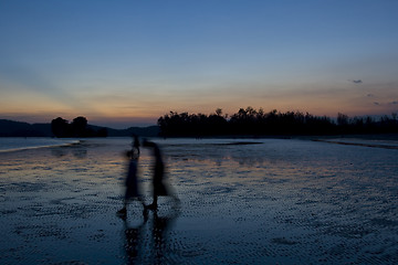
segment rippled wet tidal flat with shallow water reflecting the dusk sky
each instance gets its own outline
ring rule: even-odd
[[[397,264],[397,149],[157,140],[181,200],[122,206],[129,139],[0,153],[1,264]],[[150,165],[139,172],[150,202]]]

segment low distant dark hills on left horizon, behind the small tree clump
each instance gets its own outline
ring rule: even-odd
[[[82,121],[82,119],[77,119],[76,121],[78,123],[78,120]],[[59,119],[57,121],[61,120]],[[67,124],[67,120],[65,121]],[[73,121],[71,124],[73,124]],[[70,126],[70,124],[67,126]],[[74,127],[76,127],[76,124],[74,125]],[[80,130],[78,134],[76,134],[77,132],[76,128],[74,128],[74,132],[73,132],[74,135],[72,134],[70,135],[70,132],[66,132],[65,135],[63,136],[60,135],[59,137],[104,137],[104,136],[129,137],[133,134],[143,137],[156,137],[159,135],[159,127],[156,125],[148,127],[129,127],[126,129],[113,129],[108,127],[90,125],[87,123],[85,129],[82,130],[81,127],[77,128],[77,130]],[[9,119],[0,119],[0,137],[56,137],[56,136],[52,130],[52,123],[29,124],[29,123],[22,123],[22,121],[9,120]]]

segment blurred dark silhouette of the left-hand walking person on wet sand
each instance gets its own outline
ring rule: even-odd
[[[144,200],[139,193],[138,180],[137,180],[137,169],[138,169],[138,158],[139,158],[139,141],[138,137],[134,136],[133,147],[130,151],[127,151],[127,157],[129,158],[127,178],[125,181],[126,192],[124,197],[124,206],[117,212],[121,218],[126,218],[127,214],[127,203],[132,199],[137,199],[142,202],[144,209]]]

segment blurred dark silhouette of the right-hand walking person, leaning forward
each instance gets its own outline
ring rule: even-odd
[[[150,210],[157,209],[157,201],[159,195],[164,197],[172,197],[175,199],[175,202],[179,202],[179,199],[170,192],[170,190],[167,188],[167,186],[164,183],[164,176],[165,176],[165,165],[161,158],[160,149],[159,147],[153,142],[144,140],[143,142],[144,147],[151,148],[154,151],[155,157],[155,165],[154,165],[154,177],[153,177],[153,195],[154,201],[151,204],[149,204],[147,208]]]

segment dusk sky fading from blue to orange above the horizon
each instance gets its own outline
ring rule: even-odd
[[[398,112],[396,0],[0,0],[0,118]]]

